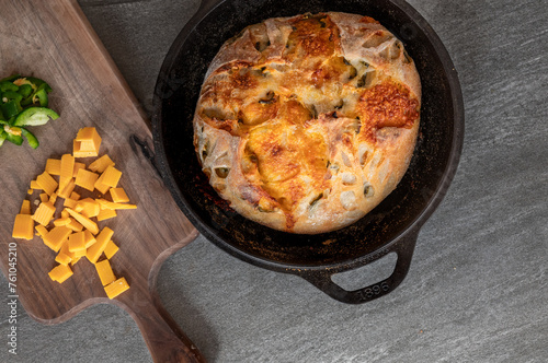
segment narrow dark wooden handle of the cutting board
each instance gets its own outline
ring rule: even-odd
[[[156,363],[181,362],[204,363],[205,359],[196,346],[184,335],[173,318],[149,292],[133,291],[121,301],[139,327],[142,338]],[[121,295],[122,296],[122,295]]]

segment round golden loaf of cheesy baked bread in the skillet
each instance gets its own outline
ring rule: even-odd
[[[357,221],[396,188],[420,105],[413,60],[372,17],[269,19],[212,61],[194,147],[237,212],[281,231],[323,233]]]

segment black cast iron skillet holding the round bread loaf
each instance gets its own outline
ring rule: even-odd
[[[209,61],[247,25],[273,16],[342,11],[373,16],[398,36],[416,63],[423,104],[420,137],[398,188],[375,210],[340,231],[296,235],[249,221],[228,208],[201,171],[192,119]],[[464,134],[457,72],[426,21],[401,0],[203,0],[169,50],[155,91],[157,166],[179,207],[214,244],[252,265],[300,276],[344,303],[364,303],[404,279],[420,227],[444,197],[456,172]],[[346,291],[331,276],[396,253],[392,274]]]

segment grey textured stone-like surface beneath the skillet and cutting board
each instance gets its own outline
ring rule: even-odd
[[[156,77],[198,0],[80,0],[150,115]],[[548,361],[548,8],[545,1],[412,0],[447,47],[466,106],[455,180],[422,229],[404,282],[359,306],[241,262],[198,237],[164,264],[161,298],[209,362]],[[388,276],[393,258],[341,276]],[[0,278],[0,285],[7,283]],[[100,305],[43,326],[22,309],[19,355],[149,362],[137,326]]]

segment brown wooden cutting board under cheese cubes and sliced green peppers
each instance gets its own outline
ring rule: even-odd
[[[37,150],[26,142],[22,147],[5,142],[0,148],[0,266],[14,282],[12,294],[28,315],[45,324],[67,320],[93,304],[115,304],[134,317],[156,362],[203,361],[156,293],[162,261],[197,232],[144,153],[142,145],[152,145],[148,121],[78,3],[2,1],[0,34],[0,78],[21,73],[44,79],[54,90],[49,107],[60,114],[55,121],[30,128],[41,142]],[[130,284],[115,300],[106,297],[87,259],[59,284],[47,274],[56,265],[55,253],[39,237],[30,242],[11,237],[23,199],[38,194],[27,195],[30,182],[44,171],[48,157],[71,152],[78,130],[89,126],[98,129],[103,139],[100,154],[107,153],[123,172],[121,186],[138,206],[99,223],[114,231],[119,251],[111,264],[115,274]],[[78,161],[89,164],[85,159]],[[16,266],[9,264],[13,253]],[[15,273],[10,274],[10,267]]]

